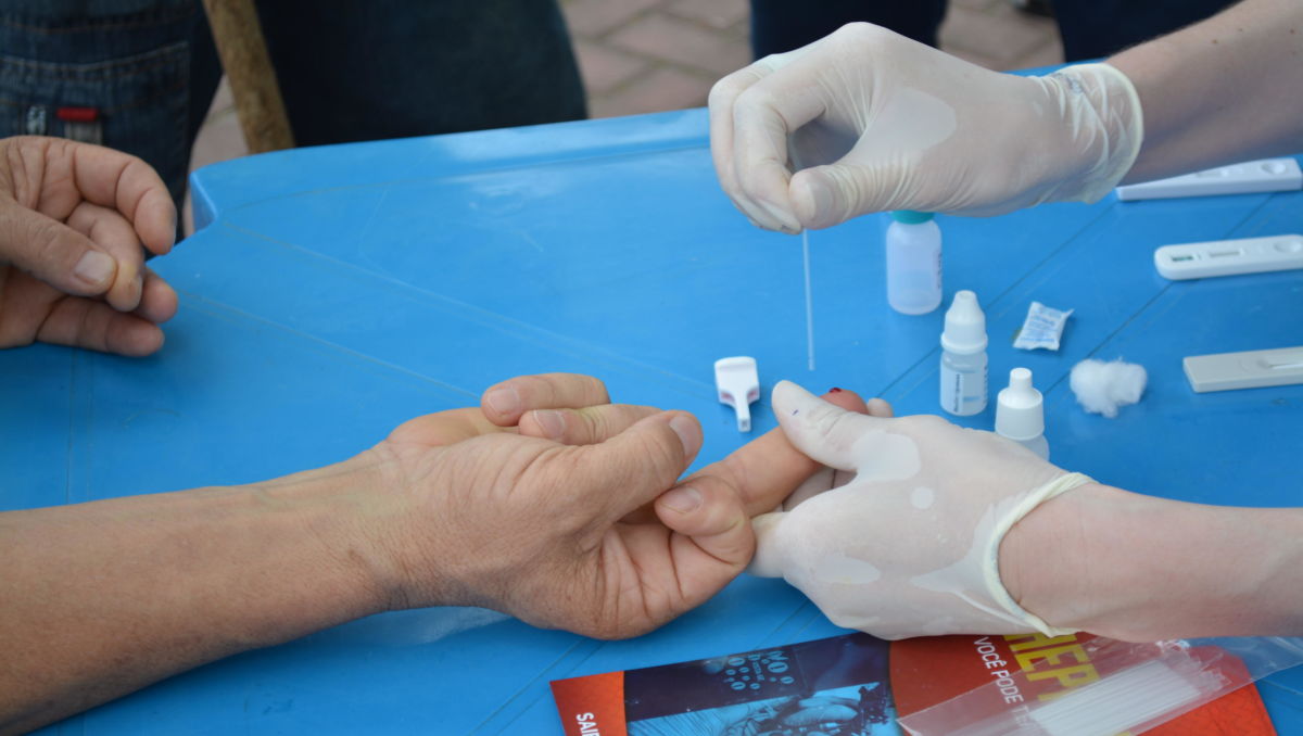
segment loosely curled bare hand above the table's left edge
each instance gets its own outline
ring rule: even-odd
[[[141,245],[172,249],[176,207],[141,159],[63,138],[0,139],[0,348],[145,356],[176,292]]]

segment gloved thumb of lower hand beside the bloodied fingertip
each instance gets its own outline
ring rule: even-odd
[[[913,440],[886,431],[878,417],[847,412],[790,380],[774,387],[774,414],[796,449],[838,470],[919,465]]]

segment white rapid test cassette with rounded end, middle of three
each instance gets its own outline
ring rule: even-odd
[[[1153,251],[1153,264],[1158,274],[1173,280],[1303,268],[1303,236],[1165,245]]]

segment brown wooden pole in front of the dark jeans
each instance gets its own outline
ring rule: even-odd
[[[203,0],[250,154],[294,147],[253,0]]]

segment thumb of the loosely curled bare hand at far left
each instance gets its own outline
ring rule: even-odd
[[[14,202],[0,205],[0,261],[74,296],[108,290],[117,261],[90,238]]]

